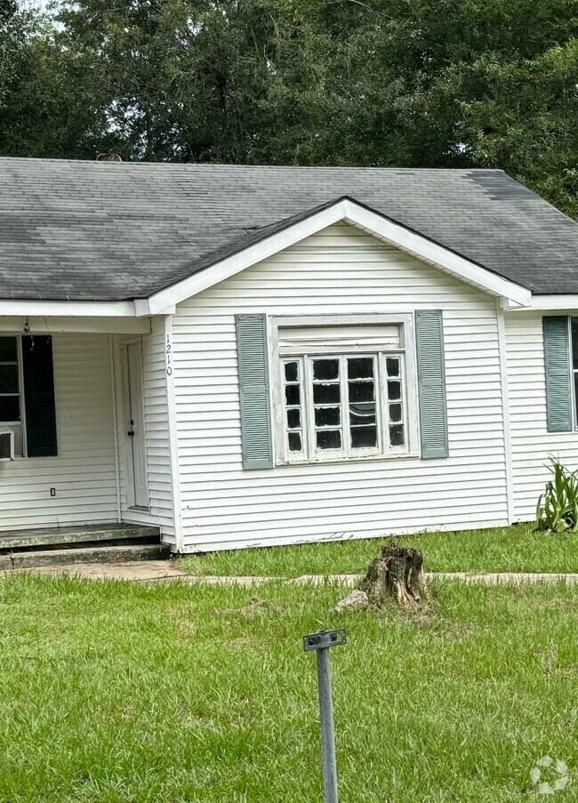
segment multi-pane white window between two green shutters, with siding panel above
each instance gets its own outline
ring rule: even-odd
[[[285,462],[410,451],[402,324],[280,328]]]

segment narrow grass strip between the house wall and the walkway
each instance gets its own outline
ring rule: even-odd
[[[422,550],[429,572],[578,572],[578,534],[535,533],[534,525],[398,536]],[[383,538],[293,547],[213,552],[182,558],[192,574],[300,574],[365,572]]]

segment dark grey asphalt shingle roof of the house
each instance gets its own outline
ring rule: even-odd
[[[350,197],[534,293],[578,293],[578,223],[496,170],[0,158],[0,298],[146,298]]]

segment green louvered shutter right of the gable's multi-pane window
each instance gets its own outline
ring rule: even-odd
[[[447,457],[446,368],[440,309],[415,312],[421,457]]]

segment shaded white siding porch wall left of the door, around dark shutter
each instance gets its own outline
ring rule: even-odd
[[[54,334],[52,349],[59,454],[0,462],[0,530],[117,518],[108,334]]]

